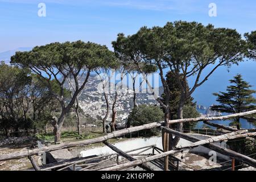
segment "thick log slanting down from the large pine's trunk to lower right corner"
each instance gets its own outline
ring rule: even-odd
[[[180,138],[183,138],[185,140],[188,140],[190,142],[199,142],[200,141],[200,139],[198,139],[196,137],[180,133],[179,131],[167,129],[166,127],[163,127],[162,130],[164,130],[164,131],[166,131],[168,133],[174,134],[174,135],[176,135],[176,136],[178,136]],[[211,150],[214,150],[216,152],[219,152],[220,154],[230,156],[230,157],[232,157],[232,158],[234,158],[234,159],[236,159],[236,160],[238,160],[240,162],[248,164],[249,166],[256,167],[256,160],[253,159],[253,158],[249,158],[246,155],[242,155],[242,154],[240,154],[238,152],[229,150],[228,148],[224,148],[224,147],[218,146],[217,144],[214,144],[214,143],[204,144],[203,146],[207,147],[207,148],[210,148]]]

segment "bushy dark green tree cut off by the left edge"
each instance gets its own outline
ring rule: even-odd
[[[0,120],[8,135],[13,128],[18,137],[19,129],[27,130],[31,126],[28,118],[30,106],[30,71],[5,64],[0,64]]]

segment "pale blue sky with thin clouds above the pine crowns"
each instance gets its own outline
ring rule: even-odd
[[[38,16],[40,2],[46,4],[46,17]],[[212,2],[217,17],[208,15]],[[119,32],[134,34],[142,26],[174,20],[212,23],[244,34],[256,30],[255,7],[254,0],[0,0],[0,52],[80,39],[111,48]]]

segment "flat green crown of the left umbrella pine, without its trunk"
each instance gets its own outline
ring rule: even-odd
[[[112,52],[106,46],[77,41],[51,43],[35,47],[29,52],[16,52],[15,56],[11,57],[11,63],[22,67],[39,68],[47,72],[47,68],[53,67],[56,67],[57,71],[64,71],[68,66],[77,69],[84,66],[90,69],[108,67],[110,64],[115,64],[113,59]]]

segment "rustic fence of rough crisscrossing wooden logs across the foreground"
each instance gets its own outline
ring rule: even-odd
[[[203,140],[200,140],[196,137],[192,137],[191,135],[188,135],[188,134],[181,133],[181,131],[175,131],[170,128],[167,128],[164,126],[164,122],[155,122],[147,125],[130,127],[123,130],[114,131],[113,133],[106,134],[105,136],[99,137],[99,138],[82,140],[78,142],[54,144],[51,146],[44,146],[42,148],[36,148],[33,150],[14,152],[11,154],[1,155],[0,162],[5,160],[20,159],[20,158],[28,157],[32,163],[32,166],[36,171],[40,171],[40,170],[47,171],[52,169],[57,169],[59,171],[64,169],[73,169],[73,170],[79,169],[80,171],[86,171],[86,170],[115,171],[115,170],[129,169],[136,166],[139,166],[142,169],[145,169],[147,171],[153,171],[154,168],[148,165],[147,164],[148,162],[153,162],[155,160],[162,159],[165,157],[167,157],[168,159],[168,157],[170,156],[172,160],[163,160],[163,162],[165,163],[164,166],[172,166],[173,168],[178,169],[180,160],[175,158],[173,156],[174,154],[176,154],[177,152],[189,150],[193,147],[204,146],[204,147],[210,148],[210,150],[229,156],[230,158],[233,159],[233,162],[234,160],[237,160],[239,162],[247,164],[248,166],[256,168],[255,159],[250,158],[249,156],[246,156],[246,155],[242,155],[238,152],[229,150],[228,148],[224,148],[214,144],[214,142],[227,141],[227,140],[232,140],[237,138],[246,138],[246,139],[254,140],[256,136],[256,132],[251,132],[248,130],[237,130],[231,127],[216,125],[214,123],[209,122],[209,121],[216,121],[216,120],[229,119],[229,118],[235,118],[235,117],[245,118],[247,117],[247,115],[255,114],[255,113],[256,113],[256,110],[252,110],[244,113],[225,115],[221,117],[199,117],[199,118],[191,118],[191,119],[176,119],[176,120],[170,120],[168,122],[168,124],[172,125],[174,123],[179,123],[179,122],[204,121],[204,123],[207,123],[208,125],[211,125],[214,127],[220,127],[222,129],[229,131],[229,133],[222,134],[217,137],[210,137]],[[182,147],[176,147],[175,150],[171,150],[171,151],[168,151],[168,150],[163,151],[162,149],[156,147],[155,145],[136,148],[130,151],[122,151],[119,148],[115,147],[113,144],[108,142],[108,140],[111,138],[122,137],[123,135],[131,134],[135,131],[153,129],[155,127],[161,127],[163,133],[168,133],[168,134],[172,134],[177,137],[183,138],[185,140],[192,142],[192,144],[188,144]],[[64,160],[62,162],[47,164],[40,167],[38,166],[38,164],[36,164],[36,161],[34,158],[34,155],[41,154],[42,152],[56,151],[63,148],[70,148],[70,147],[77,147],[77,146],[85,146],[88,144],[100,143],[100,142],[104,143],[106,146],[111,148],[115,153],[109,154],[109,155],[94,156],[92,158],[73,158],[73,159]],[[139,151],[139,150],[142,150],[142,151]],[[148,150],[152,150],[152,153],[142,154],[143,152]],[[135,151],[139,151],[139,152],[135,154],[130,154],[131,152],[135,152]],[[157,152],[158,154],[155,154],[155,152]],[[124,160],[119,160],[119,156],[122,156]],[[114,160],[114,159],[115,159],[115,163],[111,163],[107,166],[103,165],[98,167],[99,164],[107,162],[109,160]],[[173,163],[173,161],[175,161],[176,165]]]

